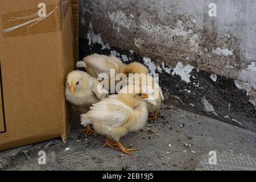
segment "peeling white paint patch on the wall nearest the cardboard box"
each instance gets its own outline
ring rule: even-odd
[[[88,45],[92,46],[92,44],[101,44],[101,49],[110,49],[109,44],[104,44],[101,39],[101,34],[95,34],[93,31],[92,22],[89,24],[89,31],[87,33]]]

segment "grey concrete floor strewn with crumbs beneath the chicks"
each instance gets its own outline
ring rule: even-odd
[[[103,147],[104,137],[86,138],[78,127],[74,111],[67,143],[53,139],[0,152],[0,170],[256,170],[255,133],[168,105],[157,122],[121,138],[141,147],[134,156]],[[46,165],[38,164],[41,150]],[[209,151],[217,151],[216,165],[208,164]]]

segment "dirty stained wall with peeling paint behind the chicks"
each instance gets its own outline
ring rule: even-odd
[[[256,131],[255,10],[240,0],[80,0],[80,59],[140,61],[159,73],[166,103]]]

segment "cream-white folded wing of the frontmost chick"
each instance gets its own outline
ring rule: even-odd
[[[118,127],[125,123],[130,115],[131,107],[118,100],[106,99],[90,107],[86,118],[94,122],[102,122],[111,127]]]

